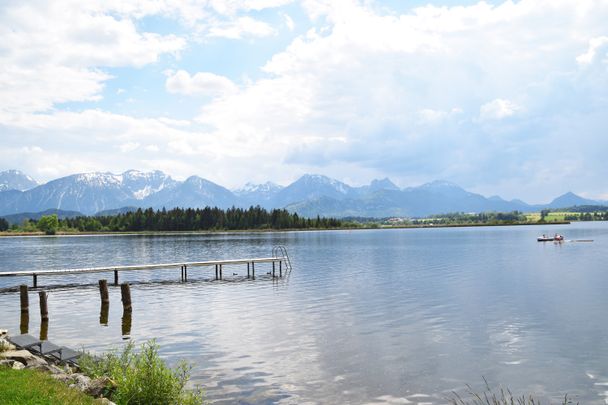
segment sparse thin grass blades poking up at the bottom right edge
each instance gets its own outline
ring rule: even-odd
[[[476,392],[467,384],[470,398],[463,399],[458,393],[452,392],[452,397],[448,398],[452,405],[541,405],[541,401],[534,398],[531,394],[515,396],[508,388],[499,387],[498,391],[490,388],[488,381],[484,378],[485,390]],[[561,405],[572,405],[573,402],[568,398],[568,394],[560,402]],[[578,405],[578,402],[577,402]]]

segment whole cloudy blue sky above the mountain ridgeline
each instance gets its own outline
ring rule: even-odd
[[[608,199],[608,1],[2,0],[0,170]]]

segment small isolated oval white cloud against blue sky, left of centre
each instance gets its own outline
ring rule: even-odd
[[[225,96],[238,91],[238,87],[224,76],[208,72],[190,75],[184,70],[166,72],[165,88],[169,93],[185,95]]]

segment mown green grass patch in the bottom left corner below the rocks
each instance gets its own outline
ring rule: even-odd
[[[95,404],[95,399],[36,370],[0,367],[0,404]]]

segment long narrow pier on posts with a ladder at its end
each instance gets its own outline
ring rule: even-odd
[[[215,279],[223,278],[223,266],[227,265],[247,265],[247,277],[255,279],[256,264],[272,264],[272,276],[283,277],[283,273],[291,271],[291,263],[287,251],[283,246],[276,246],[272,249],[271,257],[260,257],[251,259],[227,259],[227,260],[210,260],[203,262],[181,262],[181,263],[159,263],[159,264],[140,264],[128,266],[109,266],[109,267],[88,267],[81,269],[56,269],[56,270],[27,270],[27,271],[11,271],[0,272],[0,277],[32,277],[34,288],[38,287],[38,276],[58,276],[64,274],[88,274],[88,273],[109,273],[114,272],[114,285],[118,285],[118,273],[122,271],[137,271],[137,270],[158,270],[158,269],[175,269],[180,268],[181,280],[188,281],[188,270],[191,268],[214,267]],[[278,266],[277,266],[278,264]]]

